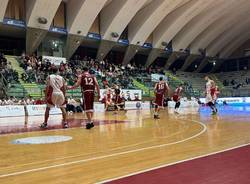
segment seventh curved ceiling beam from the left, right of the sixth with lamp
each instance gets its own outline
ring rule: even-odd
[[[210,26],[214,21],[218,20],[227,12],[232,10],[239,4],[239,1],[235,0],[218,0],[206,11],[197,15],[192,19],[173,39],[173,49],[180,50],[187,48],[190,43]]]

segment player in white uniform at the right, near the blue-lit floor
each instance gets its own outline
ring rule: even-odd
[[[212,110],[212,115],[216,115],[217,113],[217,108],[215,107],[214,104],[214,93],[215,93],[215,83],[213,80],[211,80],[208,76],[205,76],[206,82],[206,91],[205,91],[205,96],[206,96],[206,103]]]

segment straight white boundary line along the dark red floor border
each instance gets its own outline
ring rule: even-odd
[[[208,154],[205,154],[205,155],[200,155],[200,156],[197,156],[197,157],[192,157],[192,158],[189,158],[189,159],[180,160],[180,161],[177,161],[177,162],[172,162],[172,163],[169,163],[169,164],[164,164],[164,165],[152,167],[152,168],[149,168],[149,169],[144,169],[144,170],[133,172],[133,173],[130,173],[130,174],[127,174],[127,175],[117,177],[117,178],[103,180],[103,181],[100,181],[100,182],[96,182],[96,184],[103,184],[103,183],[107,183],[107,182],[127,178],[127,177],[130,177],[130,176],[135,176],[135,175],[138,175],[138,174],[142,174],[142,173],[146,173],[146,172],[149,172],[149,171],[161,169],[161,168],[164,168],[164,167],[169,167],[169,166],[173,166],[173,165],[176,165],[176,164],[181,164],[181,163],[184,163],[184,162],[188,162],[188,161],[192,161],[192,160],[196,160],[196,159],[200,159],[200,158],[204,158],[204,157],[224,153],[224,152],[227,152],[227,151],[232,151],[234,149],[243,148],[243,147],[246,147],[246,146],[249,146],[249,145],[250,145],[250,143],[242,144],[242,145],[231,147],[231,148],[228,148],[228,149],[225,149],[225,150],[216,151],[216,152],[208,153]]]

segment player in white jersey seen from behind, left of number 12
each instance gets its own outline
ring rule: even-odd
[[[44,122],[40,125],[41,128],[47,128],[49,111],[52,107],[59,107],[62,111],[62,126],[63,128],[68,128],[68,123],[66,122],[66,82],[63,77],[58,75],[58,68],[52,69],[51,75],[47,78],[47,85],[45,89],[45,99],[47,101],[47,107],[44,114]]]

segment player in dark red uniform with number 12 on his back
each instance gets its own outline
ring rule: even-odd
[[[94,127],[94,123],[92,121],[93,113],[94,113],[94,98],[95,98],[95,90],[98,93],[98,99],[100,98],[100,88],[96,78],[88,72],[88,68],[83,68],[83,73],[78,77],[77,82],[72,87],[68,87],[68,89],[75,89],[81,86],[82,89],[82,98],[83,98],[83,108],[86,112],[88,123],[86,124],[86,129],[91,129]]]

